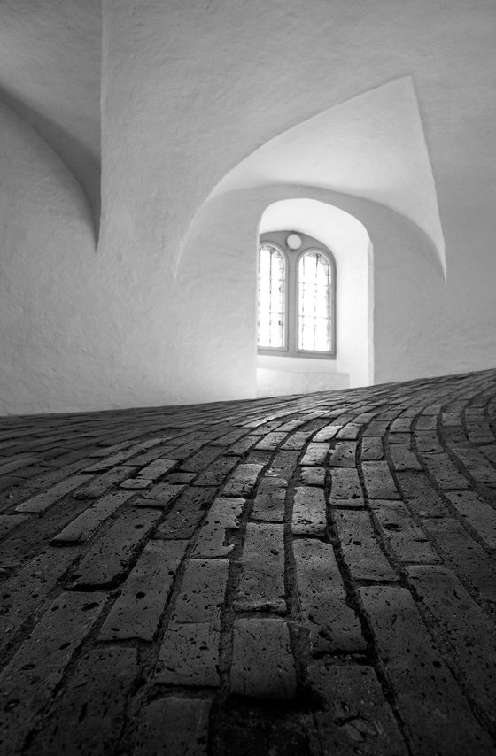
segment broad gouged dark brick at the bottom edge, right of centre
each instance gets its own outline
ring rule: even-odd
[[[407,756],[407,744],[372,667],[315,663],[308,667],[308,681],[323,701],[314,714],[323,753]]]

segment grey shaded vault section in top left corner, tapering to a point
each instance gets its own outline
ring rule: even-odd
[[[101,0],[2,0],[0,97],[100,210]]]

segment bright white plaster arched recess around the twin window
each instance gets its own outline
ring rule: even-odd
[[[320,240],[336,261],[334,359],[257,356],[258,396],[343,389],[373,382],[373,260],[367,229],[353,215],[308,197],[269,204],[259,234],[291,229]]]

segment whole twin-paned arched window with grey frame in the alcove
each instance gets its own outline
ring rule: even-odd
[[[335,291],[334,258],[323,244],[294,231],[260,236],[259,352],[335,357]]]

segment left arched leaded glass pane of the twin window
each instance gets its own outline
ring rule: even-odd
[[[285,341],[284,256],[271,244],[259,250],[259,346],[281,349]]]

